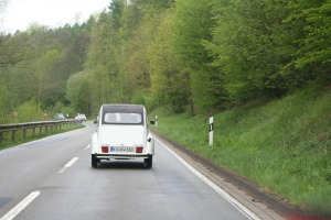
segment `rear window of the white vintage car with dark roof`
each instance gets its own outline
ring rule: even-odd
[[[142,124],[141,113],[106,112],[104,122],[110,124]]]

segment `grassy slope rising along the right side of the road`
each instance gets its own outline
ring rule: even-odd
[[[161,134],[295,205],[331,216],[331,90],[318,85],[209,117],[159,114]]]

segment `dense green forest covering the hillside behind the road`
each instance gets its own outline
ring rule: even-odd
[[[331,0],[109,0],[84,23],[0,34],[0,123],[103,103],[191,116],[331,82]]]

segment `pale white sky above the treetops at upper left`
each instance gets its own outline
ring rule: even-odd
[[[84,22],[90,14],[103,11],[111,0],[10,0],[1,12],[1,31],[25,31],[38,23],[49,28]]]

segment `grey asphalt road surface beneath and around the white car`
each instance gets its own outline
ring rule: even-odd
[[[0,220],[254,219],[158,141],[142,161],[90,167],[95,125],[0,151]]]

